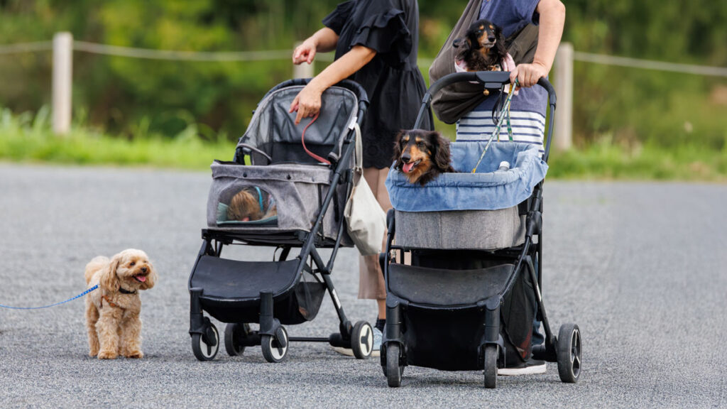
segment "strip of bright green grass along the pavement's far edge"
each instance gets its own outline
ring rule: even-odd
[[[223,136],[198,137],[196,124],[175,138],[148,135],[139,127],[131,138],[113,137],[76,126],[53,135],[48,110],[36,116],[0,110],[0,160],[55,164],[146,166],[208,170],[214,159],[232,159],[235,144]],[[727,182],[727,148],[655,144],[624,147],[604,137],[582,149],[554,152],[549,178],[599,180],[691,180]]]

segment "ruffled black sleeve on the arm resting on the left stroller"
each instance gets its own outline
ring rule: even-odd
[[[406,60],[411,52],[411,33],[404,22],[404,12],[393,8],[371,10],[358,26],[349,47],[356,45],[376,50],[390,63]]]

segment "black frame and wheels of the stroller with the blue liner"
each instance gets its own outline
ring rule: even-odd
[[[477,82],[481,84],[483,89],[499,90],[505,84],[510,83],[509,72],[468,72],[449,74],[441,78],[438,82],[432,84],[427,90],[423,100],[422,107],[417,117],[414,128],[422,123],[422,118],[430,106],[432,96],[443,87],[458,82]],[[547,140],[545,145],[545,154],[543,160],[547,162],[550,154],[550,143],[553,139],[553,118],[555,113],[555,90],[547,79],[540,79],[539,86],[544,87],[548,93],[548,104],[550,106],[549,122],[547,123]],[[575,324],[564,324],[558,333],[553,334],[550,328],[550,321],[547,317],[545,305],[542,300],[542,186],[541,180],[533,189],[533,193],[521,203],[518,208],[521,215],[526,215],[525,239],[522,245],[505,248],[502,250],[470,250],[474,253],[489,258],[489,260],[499,261],[499,267],[509,269],[509,277],[506,279],[505,285],[502,285],[494,294],[483,295],[481,301],[476,303],[477,311],[481,311],[484,315],[483,331],[477,348],[477,362],[473,362],[476,368],[484,371],[484,386],[486,388],[495,388],[497,386],[497,365],[498,360],[503,360],[503,349],[505,348],[501,329],[501,306],[504,296],[512,289],[518,274],[529,274],[529,279],[534,284],[534,295],[537,304],[536,317],[542,322],[545,330],[545,344],[534,346],[532,349],[532,357],[535,360],[545,360],[547,362],[558,362],[558,373],[561,381],[574,383],[578,380],[581,368],[581,338],[579,328]],[[391,291],[391,275],[392,266],[390,263],[398,263],[395,266],[401,266],[403,263],[403,254],[411,255],[412,266],[417,264],[417,250],[403,245],[393,244],[395,238],[395,212],[390,210],[387,214],[387,240],[386,251],[379,255],[379,262],[385,274],[385,282],[387,288],[386,301],[386,327],[382,341],[381,349],[381,365],[384,375],[387,377],[389,386],[399,386],[401,384],[401,376],[403,368],[406,365],[428,366],[430,368],[438,368],[428,364],[427,362],[411,362],[410,346],[407,345],[404,333],[406,328],[405,316],[412,308],[425,308],[428,311],[439,311],[442,314],[451,311],[457,311],[464,308],[457,305],[432,305],[412,302],[406,298],[400,297]],[[534,241],[537,237],[537,242]],[[393,251],[394,250],[394,251]],[[449,250],[436,250],[446,253]],[[396,258],[396,260],[394,260]],[[537,263],[537,270],[534,266],[534,260]],[[510,268],[510,266],[512,266]],[[443,283],[446,285],[446,283]],[[420,346],[411,346],[418,348]],[[420,360],[421,361],[421,360]],[[463,368],[440,368],[460,370]],[[473,368],[464,368],[473,369]]]

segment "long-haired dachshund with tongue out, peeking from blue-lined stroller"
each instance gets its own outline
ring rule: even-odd
[[[401,131],[394,145],[395,167],[406,174],[409,183],[424,186],[440,173],[454,172],[449,164],[449,140],[439,132]]]

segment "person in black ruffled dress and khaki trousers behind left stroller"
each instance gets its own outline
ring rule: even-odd
[[[361,129],[364,178],[386,212],[391,202],[384,182],[393,162],[394,138],[399,130],[414,126],[426,92],[417,67],[419,5],[417,0],[346,1],[323,24],[324,28],[294,49],[293,63],[310,64],[317,52],[332,50],[335,60],[300,91],[290,111],[297,111],[298,124],[318,114],[321,94],[333,84],[349,78],[364,87],[370,101]],[[428,113],[422,127],[431,130],[432,123]],[[386,319],[386,288],[377,255],[361,257],[358,297],[377,300],[372,353],[377,356]]]

